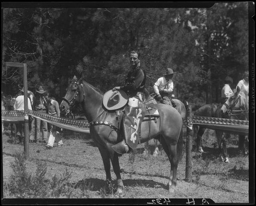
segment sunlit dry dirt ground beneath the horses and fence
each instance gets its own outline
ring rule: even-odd
[[[23,145],[10,141],[9,132],[6,130],[2,135],[4,182],[8,181],[12,174],[11,163],[15,155],[24,151]],[[185,181],[186,158],[185,154],[183,155],[178,166],[178,181],[174,194],[169,194],[165,187],[170,164],[164,151],[157,157],[143,155],[143,145],[139,145],[134,155],[122,155],[119,162],[125,186],[123,198],[210,198],[216,203],[248,203],[248,155],[236,154],[237,146],[229,145],[230,163],[222,163],[215,154],[217,149],[210,146],[215,142],[214,136],[206,134],[203,141],[209,145],[204,148],[206,152],[202,155],[193,152],[191,182]],[[67,169],[72,172],[71,182],[77,183],[85,179],[93,186],[90,198],[102,198],[99,191],[104,186],[105,172],[100,153],[90,134],[66,130],[62,147],[47,149],[44,145],[29,144],[30,157],[27,160],[27,168],[31,174],[35,173],[35,161],[39,159],[47,163],[48,177],[61,175]],[[153,140],[150,145],[153,152]],[[112,170],[112,179],[115,178]]]

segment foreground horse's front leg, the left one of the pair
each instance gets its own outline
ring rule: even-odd
[[[105,191],[106,191],[106,195],[113,193],[113,185],[111,182],[111,172],[110,172],[110,154],[109,151],[106,150],[103,147],[98,147],[99,148],[99,152],[101,154],[102,157],[102,161],[103,161],[103,165],[104,165],[104,170],[106,173],[106,185],[105,185]]]

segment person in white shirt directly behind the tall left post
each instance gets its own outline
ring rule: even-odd
[[[24,106],[24,94],[23,91],[20,90],[18,93],[18,96],[15,99],[15,103],[13,105],[14,110],[25,110],[25,106]],[[30,103],[30,99],[28,98],[28,109],[32,110],[31,107],[31,103]],[[23,135],[23,128],[24,128],[24,124],[16,124],[16,128],[17,128],[17,132],[20,133],[19,135],[19,143],[22,143],[22,135]]]

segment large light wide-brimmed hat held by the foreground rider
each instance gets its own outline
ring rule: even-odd
[[[109,90],[103,96],[103,106],[108,110],[120,109],[127,102],[128,96],[123,90]]]

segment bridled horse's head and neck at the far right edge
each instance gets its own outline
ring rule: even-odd
[[[244,93],[240,93],[240,88],[237,87],[234,89],[233,95],[222,105],[221,111],[230,115],[232,110],[246,111],[248,110],[248,106],[248,97]]]

